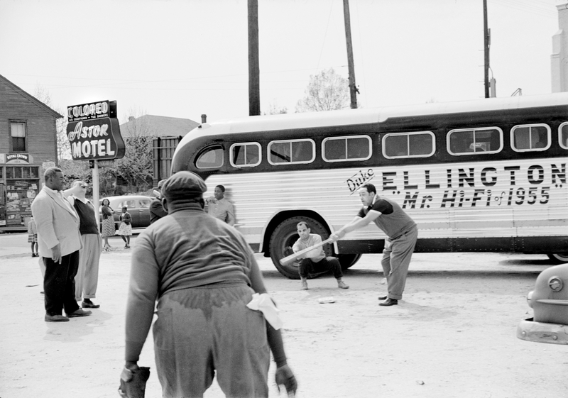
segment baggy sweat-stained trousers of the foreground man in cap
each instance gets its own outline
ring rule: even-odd
[[[266,321],[246,284],[192,287],[158,299],[154,353],[163,398],[201,398],[213,382],[226,397],[268,397]]]

